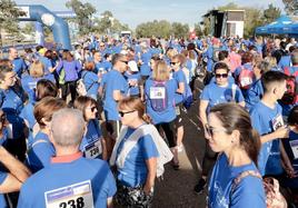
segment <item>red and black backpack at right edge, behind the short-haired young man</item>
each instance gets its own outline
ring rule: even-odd
[[[289,67],[285,67],[285,73],[288,76],[287,79],[287,91],[284,93],[281,98],[281,103],[284,105],[294,105],[297,101],[298,95],[298,83],[296,78],[298,77],[298,71],[295,73],[290,73]]]

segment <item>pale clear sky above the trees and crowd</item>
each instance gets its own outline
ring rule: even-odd
[[[52,11],[69,11],[66,8],[67,0],[14,0],[17,4],[43,4]],[[188,23],[193,27],[201,21],[209,9],[225,6],[227,0],[81,0],[89,2],[97,9],[100,16],[106,10],[121,23],[127,23],[136,29],[139,23],[152,20],[168,20]],[[269,3],[284,10],[282,0],[234,0],[238,6],[267,8]]]

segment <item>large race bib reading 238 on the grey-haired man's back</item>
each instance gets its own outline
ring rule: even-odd
[[[44,192],[47,208],[93,208],[91,181],[70,185]]]

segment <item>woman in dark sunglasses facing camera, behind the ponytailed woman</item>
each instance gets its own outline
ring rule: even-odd
[[[207,116],[210,108],[225,102],[237,102],[245,106],[244,97],[237,85],[228,81],[229,68],[224,62],[218,62],[213,68],[215,82],[206,86],[200,96],[199,117],[202,126],[207,123]],[[205,129],[205,128],[203,128]],[[205,129],[205,138],[207,138]],[[205,156],[202,159],[202,176],[199,182],[195,186],[195,191],[200,194],[205,186],[209,170],[212,168],[217,155],[209,148],[206,142]]]

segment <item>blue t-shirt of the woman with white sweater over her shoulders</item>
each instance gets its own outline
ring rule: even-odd
[[[136,129],[128,128],[123,140],[117,149],[117,157],[121,152],[125,142],[135,130]],[[136,146],[127,155],[123,168],[118,168],[117,179],[128,187],[145,185],[148,174],[146,160],[157,158],[158,156],[156,143],[150,135],[139,138]]]

